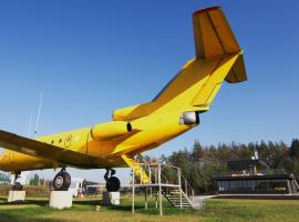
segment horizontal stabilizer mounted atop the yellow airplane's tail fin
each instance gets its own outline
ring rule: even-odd
[[[241,49],[219,7],[194,12],[193,28],[196,59],[239,54],[225,80],[229,83],[247,80]]]

